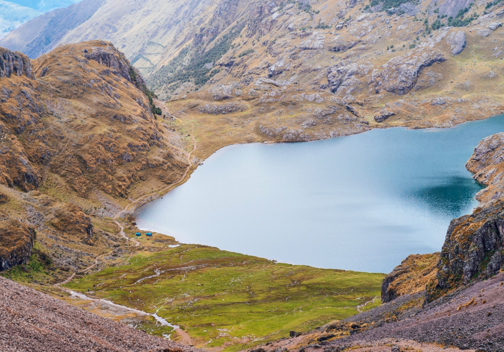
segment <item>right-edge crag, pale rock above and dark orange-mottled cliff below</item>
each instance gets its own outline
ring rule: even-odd
[[[481,203],[471,215],[452,220],[436,278],[427,289],[429,300],[473,280],[488,279],[504,267],[504,133],[483,139],[466,167],[488,187],[476,195]]]

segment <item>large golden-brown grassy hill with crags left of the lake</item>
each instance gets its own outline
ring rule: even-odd
[[[185,142],[156,120],[142,75],[110,43],[33,61],[0,53],[0,221],[23,219],[55,268],[82,269],[121,241],[109,218],[128,198],[180,180]],[[2,270],[29,257],[23,243],[2,254]]]

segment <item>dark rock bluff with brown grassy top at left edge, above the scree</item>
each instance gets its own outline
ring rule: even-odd
[[[26,262],[30,258],[35,230],[18,220],[0,222],[0,271]]]

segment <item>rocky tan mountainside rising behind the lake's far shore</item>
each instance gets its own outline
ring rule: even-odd
[[[166,11],[154,0],[85,4],[92,14],[84,22],[69,8],[58,15],[69,18],[65,28],[40,18],[3,45],[36,56],[64,42],[111,40],[161,99],[171,98],[166,114],[201,121],[196,135],[216,137],[212,151],[449,127],[503,106],[504,3],[400,1],[387,11],[336,0],[181,2]],[[223,126],[233,128],[223,134]]]

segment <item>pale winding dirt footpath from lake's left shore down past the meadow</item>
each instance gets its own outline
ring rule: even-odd
[[[173,117],[174,119],[176,119],[177,121],[180,121],[178,118],[176,118],[174,115],[172,115],[170,112],[168,112],[168,114]],[[124,239],[126,239],[127,243],[132,241],[135,243],[135,247],[138,247],[140,245],[140,242],[133,239],[133,238],[129,238],[126,233],[124,232],[124,226],[120,223],[120,221],[118,220],[120,217],[122,217],[122,215],[127,212],[130,207],[134,206],[135,204],[141,202],[142,200],[145,200],[146,198],[149,198],[149,197],[153,197],[153,196],[159,196],[160,194],[164,194],[166,193],[167,191],[169,191],[171,188],[179,185],[180,183],[184,182],[189,171],[191,170],[191,168],[193,167],[193,163],[191,161],[191,154],[196,150],[196,138],[194,137],[194,128],[192,130],[192,133],[191,133],[192,137],[193,137],[193,141],[194,141],[194,146],[193,146],[193,150],[191,150],[190,152],[187,153],[187,168],[185,169],[185,172],[183,173],[182,177],[180,178],[179,181],[177,181],[176,183],[174,184],[171,184],[170,186],[167,186],[161,190],[158,190],[154,193],[151,193],[151,194],[148,194],[148,195],[145,195],[145,196],[142,196],[136,200],[134,200],[133,202],[131,202],[130,204],[128,204],[127,206],[124,207],[124,209],[122,209],[120,212],[118,212],[114,217],[113,217],[113,221],[114,223],[119,227],[119,234],[121,235],[121,237],[123,237]],[[178,148],[177,148],[178,149]],[[128,311],[131,311],[131,312],[135,312],[139,315],[144,315],[144,316],[152,316],[154,319],[156,319],[156,321],[158,321],[161,325],[163,326],[169,326],[171,328],[174,329],[174,331],[181,337],[181,340],[179,341],[180,343],[182,344],[185,344],[185,345],[190,345],[190,346],[193,346],[194,345],[194,342],[191,338],[191,336],[185,332],[184,330],[180,329],[180,327],[178,325],[173,325],[171,323],[168,323],[164,318],[161,318],[160,316],[157,315],[157,312],[159,311],[159,309],[156,311],[156,313],[153,313],[153,314],[150,314],[150,313],[147,313],[147,312],[144,312],[144,311],[141,311],[141,310],[138,310],[138,309],[134,309],[134,308],[130,308],[130,307],[127,307],[127,306],[122,306],[122,305],[119,305],[119,304],[116,304],[116,303],[113,303],[113,302],[110,302],[108,300],[105,300],[105,299],[98,299],[98,298],[90,298],[88,296],[86,296],[85,294],[83,293],[78,293],[78,292],[75,292],[75,291],[72,291],[72,290],[68,290],[68,289],[65,289],[65,288],[62,288],[60,287],[60,285],[65,285],[65,284],[68,284],[70,281],[72,281],[72,279],[75,277],[76,274],[78,273],[84,273],[92,268],[94,268],[95,266],[98,265],[98,261],[99,259],[101,259],[102,257],[106,256],[106,255],[109,255],[113,252],[110,251],[108,253],[105,253],[105,254],[101,254],[99,256],[97,256],[95,258],[95,262],[93,265],[90,265],[89,267],[83,269],[83,270],[80,270],[80,271],[77,271],[77,272],[74,272],[72,273],[71,276],[67,277],[64,281],[61,281],[55,285],[53,285],[54,287],[57,287],[58,289],[62,290],[62,291],[65,291],[67,293],[69,293],[71,295],[71,297],[76,297],[76,298],[80,298],[80,299],[83,299],[83,300],[88,300],[88,301],[93,301],[93,302],[101,302],[101,303],[105,303],[109,306],[113,306],[113,307],[118,307],[118,308],[121,308],[121,309],[125,309],[125,310],[128,310]],[[171,335],[171,334],[170,334]],[[170,339],[170,336],[166,336],[165,338],[168,338]]]

